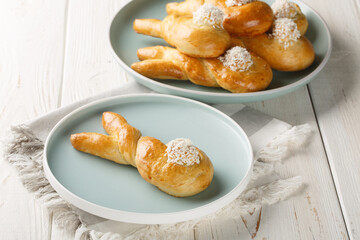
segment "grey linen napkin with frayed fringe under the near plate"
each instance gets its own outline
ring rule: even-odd
[[[138,225],[94,216],[62,199],[49,184],[42,168],[44,142],[51,129],[64,116],[92,101],[149,92],[152,91],[136,82],[129,82],[11,128],[10,140],[4,146],[5,159],[15,166],[24,186],[40,203],[49,211],[57,212],[55,223],[64,231],[75,232],[75,239],[176,239],[181,236],[180,231],[193,229],[209,219],[217,224],[230,218],[247,219],[254,211],[261,211],[262,206],[285,200],[302,188],[300,177],[281,179],[274,171],[274,163],[284,159],[290,151],[296,151],[307,140],[311,133],[308,124],[292,127],[243,104],[216,104],[213,107],[232,117],[244,129],[256,156],[247,189],[228,206],[201,219],[183,223]]]

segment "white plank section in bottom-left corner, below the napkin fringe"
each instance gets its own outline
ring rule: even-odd
[[[15,169],[0,161],[0,239],[47,239],[51,219],[19,181]]]

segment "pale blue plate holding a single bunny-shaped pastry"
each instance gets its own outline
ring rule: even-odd
[[[104,111],[124,116],[144,136],[164,143],[190,138],[214,165],[214,178],[203,192],[172,197],[143,180],[131,166],[75,150],[70,135],[105,131]],[[252,149],[244,131],[231,118],[203,103],[155,94],[104,99],[62,119],[45,144],[44,170],[67,201],[100,217],[132,223],[173,223],[214,212],[245,188],[252,169]]]

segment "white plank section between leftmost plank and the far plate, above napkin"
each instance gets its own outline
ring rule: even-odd
[[[108,44],[111,20],[125,2],[69,2],[62,105],[126,82]]]

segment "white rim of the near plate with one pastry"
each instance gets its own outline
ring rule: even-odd
[[[205,205],[202,205],[200,207],[195,207],[192,209],[184,210],[184,211],[177,211],[177,212],[167,212],[167,213],[139,213],[139,212],[128,212],[128,211],[122,211],[117,209],[112,209],[109,207],[104,207],[101,205],[98,205],[96,203],[90,202],[88,200],[85,200],[79,196],[77,196],[75,193],[68,190],[65,186],[63,186],[53,175],[47,159],[47,152],[49,148],[49,141],[51,140],[53,134],[57,131],[57,129],[62,126],[62,124],[67,121],[69,118],[71,118],[73,115],[86,110],[89,107],[96,106],[98,104],[104,103],[104,102],[111,102],[114,100],[120,100],[121,99],[127,99],[127,98],[143,98],[143,97],[150,97],[150,98],[172,98],[176,101],[185,101],[190,102],[191,104],[199,105],[200,107],[205,107],[208,110],[220,115],[221,117],[224,117],[227,121],[230,121],[230,123],[233,125],[233,127],[237,128],[237,131],[240,131],[240,133],[244,136],[244,144],[249,149],[249,168],[247,169],[245,176],[240,182],[228,193],[226,193],[224,196],[220,197],[219,199],[216,199],[210,203],[207,203]],[[205,103],[179,97],[179,96],[172,96],[167,94],[157,94],[157,93],[137,93],[137,94],[127,94],[127,95],[121,95],[121,96],[113,96],[113,97],[107,97],[100,100],[96,100],[94,102],[85,104],[84,106],[81,106],[74,111],[67,114],[65,117],[63,117],[50,131],[49,135],[46,138],[45,146],[44,146],[44,157],[43,157],[43,168],[45,177],[48,179],[51,186],[56,190],[56,192],[66,201],[73,204],[74,206],[88,212],[94,215],[97,215],[99,217],[107,218],[110,220],[115,221],[121,221],[121,222],[127,222],[127,223],[136,223],[136,224],[171,224],[171,223],[177,223],[187,220],[192,220],[194,218],[200,218],[205,215],[211,214],[215,212],[216,210],[225,207],[230,202],[236,199],[238,195],[245,189],[247,186],[247,183],[250,181],[251,173],[253,170],[253,163],[254,163],[254,154],[253,149],[249,140],[249,137],[245,133],[245,131],[242,129],[242,127],[236,123],[231,117],[226,115],[225,113],[221,112],[220,110],[211,107]]]

